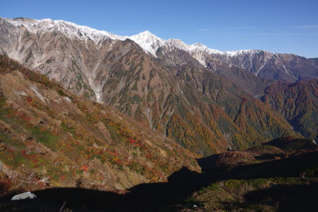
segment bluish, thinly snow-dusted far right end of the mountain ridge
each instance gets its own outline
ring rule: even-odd
[[[318,66],[312,59],[293,54],[273,54],[261,50],[239,51],[233,56],[214,55],[206,59],[213,70],[214,64],[240,67],[267,79],[295,82],[318,77]]]

